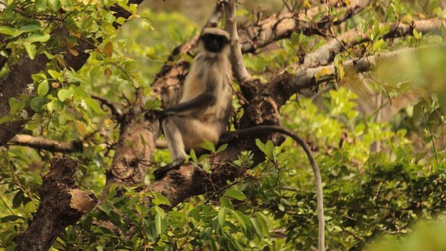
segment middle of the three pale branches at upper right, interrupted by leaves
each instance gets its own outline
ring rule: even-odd
[[[408,36],[413,34],[413,30],[416,29],[422,33],[440,33],[441,29],[446,26],[445,20],[430,19],[419,20],[412,22],[411,24],[390,23],[380,24],[380,26],[390,26],[389,32],[386,33],[383,38],[397,38],[402,36]],[[314,68],[317,66],[325,66],[334,59],[334,56],[339,52],[342,52],[348,48],[354,47],[361,43],[369,42],[371,31],[360,31],[360,29],[351,29],[346,33],[333,38],[325,45],[318,48],[318,50],[307,54],[304,59],[304,63],[300,68]]]

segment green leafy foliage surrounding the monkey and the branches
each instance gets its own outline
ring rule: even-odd
[[[309,1],[297,2],[309,5]],[[416,29],[410,36],[386,40],[390,27],[380,22],[409,23],[426,15],[445,17],[445,10],[438,1],[429,1],[425,6],[417,1],[373,2],[361,17],[336,28],[356,27],[367,33],[369,42],[336,56],[337,79],[327,84],[334,88],[323,91],[316,99],[298,94],[281,108],[284,126],[298,132],[312,146],[321,168],[330,250],[379,250],[389,242],[406,243],[417,236],[417,231],[421,236],[433,235],[429,229],[413,228],[417,224],[440,222],[436,225],[438,231],[444,229],[444,50],[391,65],[383,63],[376,73],[367,75],[371,79],[367,88],[361,79],[344,73],[341,63],[397,47],[443,42],[443,36]],[[198,27],[178,13],[148,9],[137,13],[136,6],[130,5],[123,8],[132,16],[117,33],[114,24],[126,20],[116,19],[109,8],[126,3],[1,3],[0,54],[8,55],[9,60],[0,77],[8,74],[9,67],[24,55],[30,59],[45,56],[49,63],[33,75],[29,93],[9,100],[10,115],[0,118],[0,123],[26,119],[29,108],[36,114],[27,118],[30,121],[23,133],[59,142],[80,142],[82,151],[71,153],[79,160],[77,185],[96,194],[105,187],[105,170],[111,165],[119,130],[92,94],[116,102],[120,109],[131,109],[141,101],[134,94],[138,89],[148,98],[146,109],[160,109],[160,100],[153,95],[150,84],[174,46],[192,37]],[[315,21],[319,18],[321,15]],[[61,27],[68,29],[70,36],[59,36]],[[82,53],[77,50],[79,38],[89,40],[94,49],[86,52],[90,55],[86,65],[75,71],[66,67],[66,54],[61,52],[75,56]],[[292,33],[290,39],[277,42],[265,53],[245,55],[245,62],[252,73],[266,80],[284,68],[291,71],[288,66],[326,42],[320,36]],[[179,59],[190,60],[190,55],[181,54],[174,60]],[[326,74],[320,72],[316,77],[323,79]],[[389,102],[420,90],[424,90],[421,96],[390,119],[378,119],[380,110]],[[380,106],[372,112],[360,107],[368,91],[380,93]],[[257,139],[256,146],[265,155],[260,165],[252,166],[251,151],[242,152],[231,163],[244,170],[242,176],[222,190],[194,197],[171,209],[169,200],[160,193],[110,186],[104,202],[77,225],[68,227],[53,248],[311,250],[317,243],[316,193],[305,153],[291,139],[279,146]],[[197,157],[191,153],[189,161],[210,172],[208,157],[224,151],[226,145],[217,148],[203,142],[201,147],[210,154]],[[0,149],[1,248],[13,250],[18,234],[26,229],[27,220],[36,211],[37,188],[51,157],[49,151],[24,146]],[[169,155],[157,150],[153,159],[167,162]],[[147,175],[146,183],[152,181],[153,176]],[[111,224],[105,227],[104,222]],[[418,245],[426,243],[423,238],[416,240]]]

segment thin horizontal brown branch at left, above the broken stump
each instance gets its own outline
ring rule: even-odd
[[[8,144],[17,146],[29,146],[33,149],[43,149],[51,151],[53,153],[73,153],[82,151],[81,142],[56,142],[51,139],[45,139],[44,137],[33,137],[31,135],[15,135],[13,139],[10,139]]]

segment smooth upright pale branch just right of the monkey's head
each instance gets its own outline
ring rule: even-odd
[[[243,63],[243,54],[238,41],[237,19],[236,19],[236,0],[224,1],[226,6],[226,31],[231,35],[231,65],[233,75],[239,83],[251,79]]]

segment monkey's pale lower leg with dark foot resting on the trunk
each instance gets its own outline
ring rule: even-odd
[[[164,167],[156,169],[155,172],[153,172],[155,179],[160,179],[170,170],[177,169],[186,160],[183,136],[178,128],[178,126],[181,125],[181,120],[183,119],[168,117],[162,121],[162,130],[164,130],[164,136],[167,139],[167,146],[172,155],[172,162]]]

